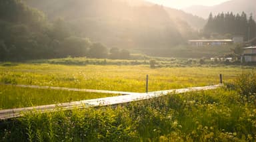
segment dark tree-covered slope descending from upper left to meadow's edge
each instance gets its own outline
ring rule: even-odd
[[[115,52],[111,52],[115,50]],[[50,22],[45,14],[21,0],[0,1],[0,60],[65,58],[129,58],[128,50],[110,52],[100,42],[92,42],[73,32],[63,19]]]

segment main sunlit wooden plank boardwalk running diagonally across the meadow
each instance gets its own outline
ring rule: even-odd
[[[93,100],[83,100],[77,102],[70,103],[61,103],[61,104],[51,104],[45,106],[35,106],[35,107],[23,107],[23,108],[15,108],[15,109],[3,109],[0,110],[0,120],[11,119],[15,117],[20,117],[24,113],[29,111],[57,111],[57,108],[61,108],[63,110],[73,109],[73,108],[85,108],[85,107],[95,107],[95,106],[110,106],[115,104],[124,104],[128,102],[138,101],[138,100],[147,100],[150,98],[157,98],[159,96],[166,96],[167,94],[181,94],[185,92],[193,92],[199,90],[214,90],[223,86],[222,84],[214,85],[214,86],[203,86],[203,87],[193,87],[193,88],[183,88],[183,89],[175,89],[175,90],[163,90],[157,92],[148,92],[148,93],[133,93],[133,92],[119,92],[119,94],[127,94],[125,96],[114,96],[107,98],[98,98]],[[51,87],[53,88],[53,87]],[[75,89],[75,88],[73,88]],[[79,89],[77,89],[79,90]],[[99,90],[101,92],[103,90]],[[105,92],[105,90],[104,90]],[[112,92],[112,91],[107,91]],[[113,92],[111,93],[113,94]]]

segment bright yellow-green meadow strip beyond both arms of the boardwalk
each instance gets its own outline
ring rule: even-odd
[[[224,82],[229,82],[240,74],[242,69],[239,67],[149,68],[147,65],[19,64],[0,66],[0,71],[2,83],[145,92],[147,74],[149,74],[149,91],[156,91],[218,84],[219,74],[223,74]]]

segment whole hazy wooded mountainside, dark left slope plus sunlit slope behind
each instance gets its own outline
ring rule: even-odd
[[[154,54],[158,48],[171,48],[197,36],[189,24],[159,5],[121,0],[3,0],[0,8],[0,60],[128,58],[127,50]]]

